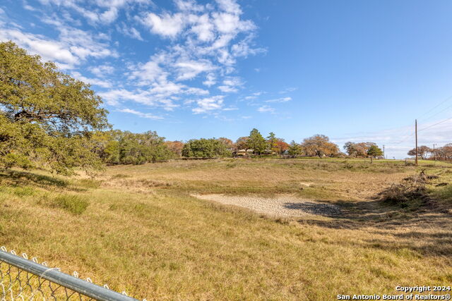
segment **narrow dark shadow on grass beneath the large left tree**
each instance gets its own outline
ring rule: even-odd
[[[69,182],[66,180],[26,171],[0,171],[0,183],[7,183],[8,185],[13,186],[32,184],[40,187],[54,186],[58,188],[66,188],[69,186]]]

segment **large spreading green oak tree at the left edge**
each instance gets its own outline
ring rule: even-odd
[[[105,130],[107,111],[90,86],[54,63],[0,42],[0,168],[101,168],[92,132]]]

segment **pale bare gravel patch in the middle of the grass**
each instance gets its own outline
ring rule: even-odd
[[[244,207],[271,216],[306,216],[308,214],[336,216],[340,214],[339,207],[333,204],[297,199],[290,195],[278,195],[276,197],[194,195],[194,197]]]

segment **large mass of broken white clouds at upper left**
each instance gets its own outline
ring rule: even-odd
[[[76,68],[89,61],[87,69],[93,75],[85,77],[82,71],[74,71],[73,75],[109,89],[118,84],[118,87],[101,93],[107,104],[114,106],[137,102],[168,111],[180,105],[194,104],[194,113],[231,110],[234,107],[224,104],[224,96],[209,97],[210,92],[197,87],[198,81],[194,80],[201,78],[203,87],[215,86],[221,92],[237,92],[244,85],[237,76],[232,76],[237,60],[263,51],[253,44],[256,25],[243,17],[235,0],[213,0],[208,4],[196,0],[173,0],[174,11],[160,9],[150,0],[39,1],[48,6],[42,10],[48,13],[43,16],[44,23],[52,25],[59,37],[49,39],[30,35],[28,39],[22,37],[23,44],[64,68]],[[115,24],[119,16],[125,16],[127,21]],[[95,31],[76,28],[83,24],[80,20]],[[169,39],[163,47],[160,43],[153,43],[152,46],[157,48],[152,50],[155,53],[148,61],[139,61],[140,56],[129,56],[129,60],[120,58],[115,50],[119,49],[119,41],[112,41],[117,36],[114,29],[121,35],[143,41],[143,32],[136,24]],[[0,37],[3,37],[6,34],[1,29],[0,26]],[[121,62],[107,61],[112,58],[121,59]],[[107,80],[109,75],[114,74],[115,78],[120,75],[119,67],[116,73],[112,67],[116,66],[115,63],[126,66],[126,81]],[[199,99],[196,100],[194,95]],[[195,99],[193,104],[184,104],[187,97]]]

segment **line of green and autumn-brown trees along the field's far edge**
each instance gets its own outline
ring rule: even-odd
[[[0,43],[0,168],[71,174],[74,167],[96,169],[180,157],[381,156],[372,142],[347,142],[345,152],[340,152],[326,135],[287,143],[275,133],[263,137],[256,128],[235,142],[226,137],[165,141],[153,131],[112,130],[107,113],[89,85],[13,42]]]

